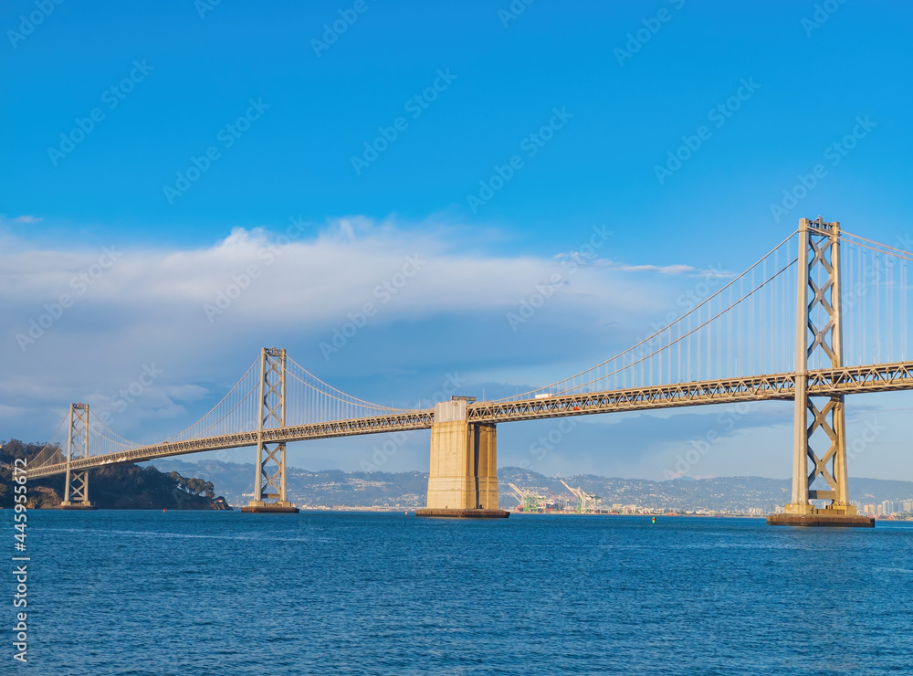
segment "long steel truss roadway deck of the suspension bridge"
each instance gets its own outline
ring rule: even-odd
[[[546,417],[586,416],[616,411],[640,411],[651,408],[676,408],[725,404],[742,401],[789,400],[795,389],[794,373],[754,375],[742,378],[708,380],[666,386],[632,387],[581,395],[545,396],[507,402],[477,402],[468,407],[470,422],[501,423]],[[890,392],[913,389],[913,362],[845,366],[808,372],[810,396],[853,395],[866,392]],[[350,437],[410,429],[428,429],[434,422],[432,409],[398,413],[390,416],[362,417],[335,422],[312,423],[263,430],[265,443],[304,441],[307,439]],[[174,443],[153,444],[70,462],[71,470],[121,462],[142,462],[206,450],[236,449],[257,446],[257,430],[217,437],[191,439]],[[28,479],[37,479],[67,471],[67,463],[29,469]]]

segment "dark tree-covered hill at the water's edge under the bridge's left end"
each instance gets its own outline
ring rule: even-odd
[[[33,459],[43,448],[18,439],[0,445],[0,507],[13,506],[12,465],[16,458]],[[58,474],[28,481],[28,507],[53,509],[63,500],[65,477]],[[218,510],[225,499],[215,496],[211,481],[163,474],[154,467],[111,465],[89,471],[89,500],[99,509]]]

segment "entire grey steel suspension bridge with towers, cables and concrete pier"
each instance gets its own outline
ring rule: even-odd
[[[384,407],[263,348],[223,399],[163,442],[122,438],[72,404],[30,463],[66,474],[64,508],[90,509],[89,470],[216,449],[257,449],[244,511],[297,512],[286,488],[292,441],[431,429],[429,516],[499,517],[497,425],[520,420],[741,401],[795,402],[791,502],[768,523],[872,525],[849,502],[845,396],[913,389],[908,267],[913,253],[803,218],[749,269],[628,350],[535,390],[434,408]]]

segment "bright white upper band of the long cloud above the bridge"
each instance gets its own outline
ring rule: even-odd
[[[357,230],[361,229],[361,232]],[[509,308],[537,284],[561,271],[556,261],[455,253],[456,241],[440,232],[404,232],[343,219],[317,238],[283,246],[262,229],[236,228],[210,248],[135,250],[98,279],[77,303],[142,309],[147,318],[175,314],[209,323],[205,304],[222,300],[215,322],[256,319],[295,323],[334,322],[364,303],[384,307],[384,320],[427,312]],[[118,245],[115,251],[120,251]],[[101,251],[23,251],[0,255],[5,277],[0,296],[18,305],[55,301],[83,287],[79,275],[96,266]],[[581,268],[559,292],[565,300],[593,296],[609,307],[634,310],[649,294],[619,288],[604,270]],[[77,288],[79,287],[79,288]],[[242,288],[243,287],[243,288]],[[240,293],[237,291],[240,290]],[[624,291],[624,292],[620,292]],[[228,296],[234,296],[228,298]],[[393,296],[394,302],[384,301]],[[226,301],[231,301],[230,303]],[[142,323],[142,313],[122,323]],[[213,322],[213,323],[215,323]]]

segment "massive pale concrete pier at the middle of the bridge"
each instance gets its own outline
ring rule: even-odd
[[[498,509],[498,453],[494,424],[471,423],[467,399],[435,405],[427,507],[416,516],[506,518]]]

